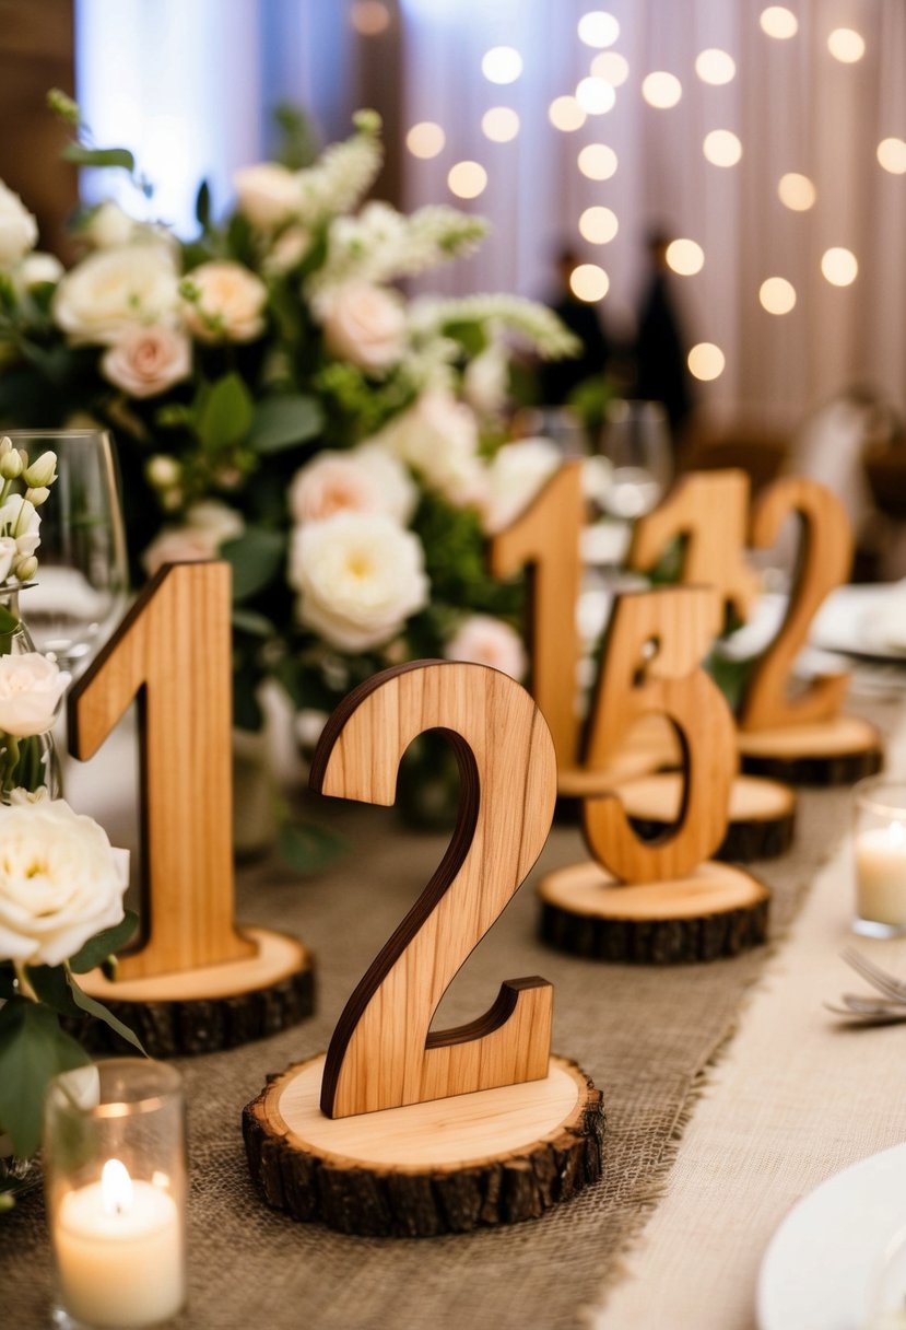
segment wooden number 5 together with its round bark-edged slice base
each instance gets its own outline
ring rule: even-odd
[[[737,766],[733,720],[701,669],[720,626],[712,588],[620,596],[594,701],[590,761],[640,717],[668,717],[683,749],[678,819],[658,839],[632,826],[624,787],[583,801],[594,863],[542,878],[542,936],[602,960],[711,960],[764,942],[769,892],[708,857],[721,843]]]

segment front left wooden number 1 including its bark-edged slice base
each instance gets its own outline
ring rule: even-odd
[[[314,1007],[306,948],[234,922],[230,579],[225,563],[166,565],[69,696],[82,761],[138,701],[141,940],[114,979],[81,984],[155,1057],[231,1048]]]

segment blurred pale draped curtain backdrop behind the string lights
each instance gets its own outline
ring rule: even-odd
[[[614,108],[561,132],[547,117],[573,93],[595,51],[577,35],[579,17],[606,7],[619,21],[612,51],[628,61]],[[484,193],[460,206],[486,215],[493,235],[472,259],[436,274],[448,293],[514,290],[543,295],[551,254],[565,241],[610,278],[600,305],[614,330],[631,326],[652,225],[701,245],[701,271],[675,278],[687,338],[713,342],[725,370],[700,396],[716,419],[785,427],[853,383],[906,407],[906,176],[881,169],[879,140],[906,138],[903,0],[788,0],[798,19],[790,40],[759,25],[763,0],[399,0],[368,36],[353,27],[361,0],[78,0],[78,97],[98,141],[137,149],[159,182],[154,210],[191,227],[198,181],[215,200],[230,172],[266,156],[270,109],[306,106],[324,141],[348,132],[359,105],[387,120],[389,180],[383,193],[405,207],[452,201],[448,172],[461,160],[488,172]],[[373,7],[372,7],[373,12]],[[833,28],[866,40],[862,60],[841,64],[826,47]],[[496,45],[515,47],[523,72],[496,85],[481,70]],[[701,82],[695,59],[717,47],[736,61],[721,86]],[[642,78],[674,73],[680,101],[647,105]],[[481,118],[513,108],[519,133],[492,142]],[[404,149],[424,120],[446,136],[433,160]],[[705,161],[704,136],[736,133],[736,166]],[[615,174],[587,180],[579,149],[600,142]],[[777,197],[786,172],[809,176],[817,202],[790,211]],[[86,190],[97,190],[86,182]],[[97,197],[97,194],[94,194]],[[604,205],[619,230],[606,245],[579,237],[583,209]],[[845,246],[860,263],[849,287],[821,275],[825,249]],[[759,303],[768,277],[796,289],[796,307],[770,315]]]

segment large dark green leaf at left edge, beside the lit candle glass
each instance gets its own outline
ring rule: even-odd
[[[0,1008],[0,1121],[21,1158],[41,1141],[48,1084],[60,1072],[90,1063],[85,1049],[60,1029],[49,1007],[12,998]]]

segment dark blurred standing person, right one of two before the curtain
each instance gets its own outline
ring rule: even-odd
[[[647,241],[651,271],[639,309],[635,395],[663,402],[676,452],[693,402],[685,342],[670,290],[670,241],[662,230],[651,231]]]

